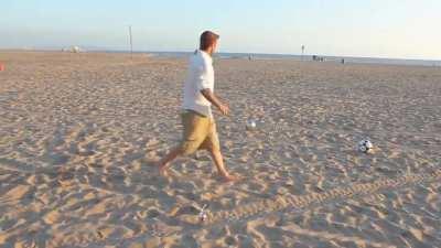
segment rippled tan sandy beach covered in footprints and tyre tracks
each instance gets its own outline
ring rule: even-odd
[[[244,176],[220,183],[205,152],[152,166],[181,138],[185,58],[0,63],[0,247],[441,247],[440,67],[215,60]]]

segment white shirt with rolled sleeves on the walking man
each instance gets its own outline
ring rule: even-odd
[[[191,55],[189,64],[182,108],[213,118],[212,104],[201,93],[202,89],[214,91],[213,58],[208,53],[197,50]]]

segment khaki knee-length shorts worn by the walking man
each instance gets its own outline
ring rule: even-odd
[[[202,149],[220,149],[216,123],[212,118],[192,110],[185,110],[181,117],[184,131],[180,148],[183,155],[190,155]]]

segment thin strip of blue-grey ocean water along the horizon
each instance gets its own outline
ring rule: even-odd
[[[137,52],[138,53],[138,52]],[[146,53],[146,52],[143,52]],[[153,56],[160,57],[186,57],[191,52],[147,52]],[[312,55],[288,55],[288,54],[252,54],[252,53],[217,53],[217,58],[241,58],[248,60],[294,60],[294,61],[312,61]],[[384,64],[384,65],[419,65],[419,66],[437,66],[441,67],[441,61],[429,60],[401,60],[401,58],[377,58],[377,57],[346,57],[346,56],[321,56],[325,62],[341,63],[344,58],[346,64]]]

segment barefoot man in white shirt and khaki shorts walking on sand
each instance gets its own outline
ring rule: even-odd
[[[181,143],[160,162],[160,173],[166,175],[170,163],[179,155],[190,155],[197,150],[209,152],[219,175],[226,181],[237,177],[230,175],[224,165],[216,123],[211,106],[214,105],[226,116],[229,108],[214,95],[213,58],[219,35],[205,31],[201,34],[200,50],[190,58],[189,75],[184,84],[182,123],[184,126]]]

